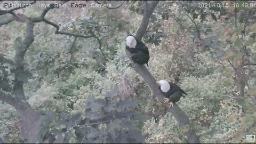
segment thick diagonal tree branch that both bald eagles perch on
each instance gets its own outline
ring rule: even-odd
[[[142,39],[142,36],[145,34],[145,31],[148,26],[150,15],[153,13],[156,5],[158,4],[158,1],[151,2],[150,4],[146,4],[145,6],[145,13],[142,18],[142,22],[140,24],[140,27],[137,31],[137,34],[135,35],[136,38],[139,40]],[[129,51],[126,50],[126,54],[131,59],[131,54]],[[156,84],[156,79],[151,75],[151,73],[147,70],[145,66],[138,65],[136,63],[132,63],[132,67],[134,70],[140,74],[145,82],[148,84],[148,86],[153,90],[154,94],[157,95],[157,99],[159,102],[164,102],[164,95],[161,93],[161,91],[158,89],[158,85]],[[169,108],[168,103],[165,103],[165,107],[172,113],[172,115],[177,119],[178,123],[181,126],[189,125],[189,119],[188,116],[174,103],[173,108]],[[200,143],[199,137],[196,135],[195,131],[192,129],[192,127],[189,127],[189,130],[186,132],[188,143]]]

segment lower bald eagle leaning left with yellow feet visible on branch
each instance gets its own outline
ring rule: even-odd
[[[186,94],[178,85],[174,83],[167,82],[165,80],[160,80],[156,82],[159,84],[158,89],[162,91],[165,102],[169,103],[169,107],[173,107],[173,102],[177,102],[180,100],[180,97],[185,98],[183,94]],[[183,94],[182,94],[183,93]]]

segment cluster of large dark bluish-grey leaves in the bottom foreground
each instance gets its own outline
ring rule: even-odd
[[[117,101],[114,97],[116,93],[117,88],[108,92],[105,100],[87,98],[85,114],[55,115],[53,111],[42,111],[44,116],[42,119],[30,121],[33,117],[25,117],[26,121],[21,120],[21,131],[26,133],[21,135],[25,138],[25,142],[40,143],[43,141],[49,143],[144,142],[145,137],[134,125],[135,122],[145,121],[146,118],[133,111],[137,100]],[[27,127],[30,129],[23,130]],[[31,134],[35,135],[31,136]]]

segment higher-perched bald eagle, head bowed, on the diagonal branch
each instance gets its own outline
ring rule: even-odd
[[[135,38],[133,35],[126,37],[125,49],[131,53],[131,58],[134,63],[148,66],[149,52],[148,47]]]

